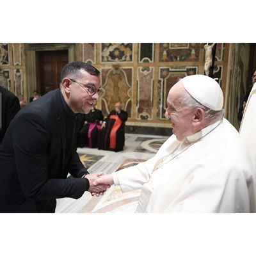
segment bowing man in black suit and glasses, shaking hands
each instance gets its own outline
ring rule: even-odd
[[[56,198],[109,187],[93,186],[104,173],[89,174],[76,152],[77,113],[89,113],[102,94],[99,75],[90,64],[68,63],[60,88],[13,118],[0,145],[0,212],[55,212]]]

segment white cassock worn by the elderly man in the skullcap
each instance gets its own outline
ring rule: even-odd
[[[198,213],[256,212],[253,172],[253,157],[223,118],[186,143],[172,135],[156,156],[112,174],[122,192],[141,189],[136,212]]]

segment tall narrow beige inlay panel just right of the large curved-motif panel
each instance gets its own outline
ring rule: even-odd
[[[152,119],[154,67],[138,68],[137,118]]]

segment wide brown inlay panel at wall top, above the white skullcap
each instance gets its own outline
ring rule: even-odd
[[[200,44],[160,44],[159,61],[199,61]]]

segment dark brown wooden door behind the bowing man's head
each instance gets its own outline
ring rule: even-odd
[[[68,51],[38,52],[40,95],[44,95],[60,86],[60,75],[68,63]]]

